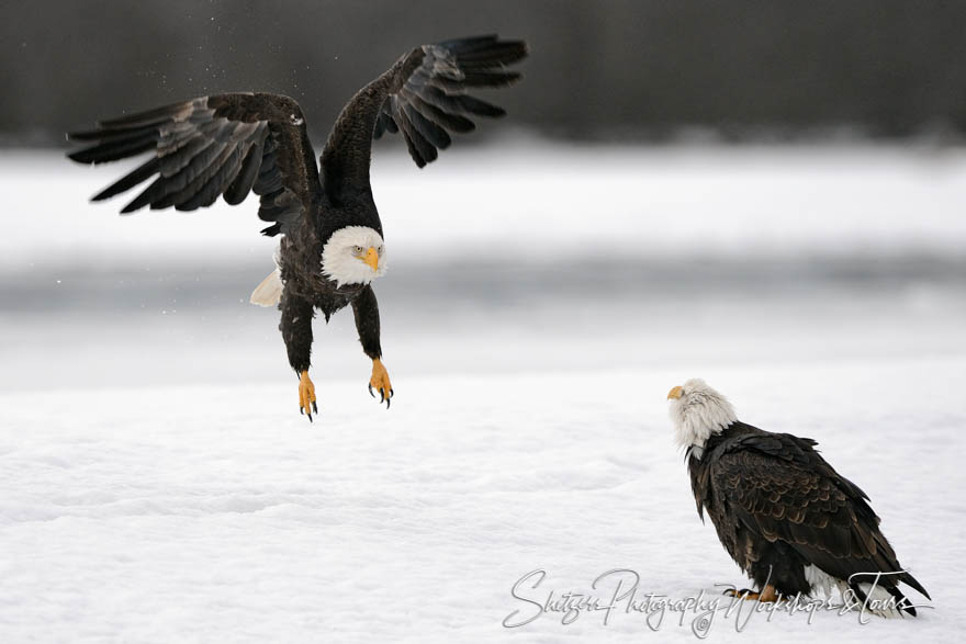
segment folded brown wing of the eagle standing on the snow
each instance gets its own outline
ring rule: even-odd
[[[834,577],[899,572],[896,553],[878,528],[879,518],[866,502],[868,497],[840,476],[813,444],[780,433],[735,441],[710,472],[715,496],[746,530],[788,543]],[[926,595],[909,574],[896,580]]]

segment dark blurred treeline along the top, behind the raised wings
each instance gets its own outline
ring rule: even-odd
[[[530,43],[525,82],[498,102],[549,136],[966,132],[964,1],[8,0],[0,142],[259,90],[296,98],[321,145],[408,47],[487,32]]]

